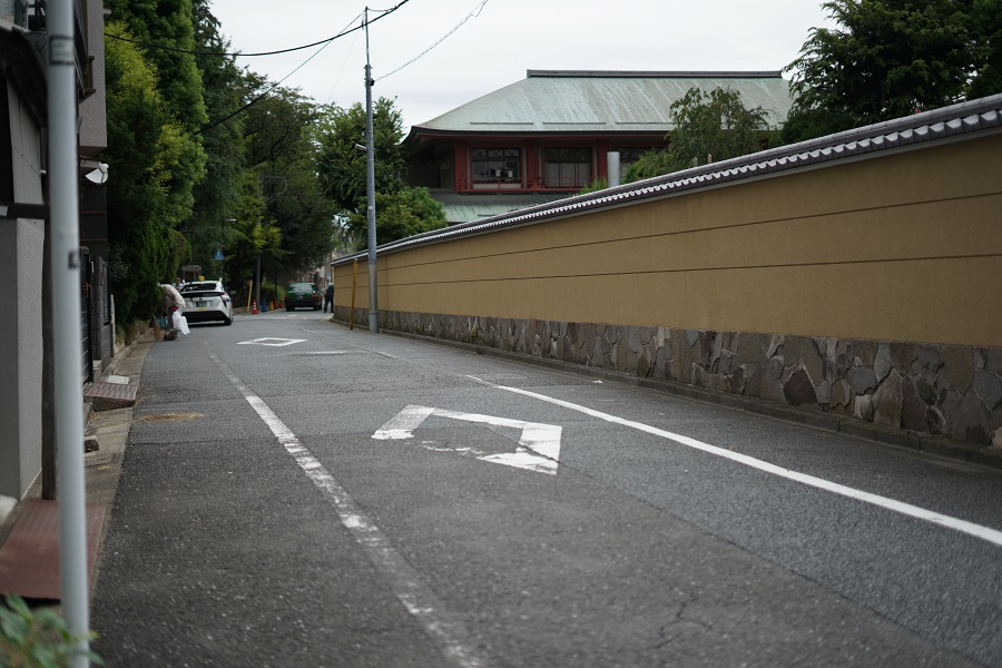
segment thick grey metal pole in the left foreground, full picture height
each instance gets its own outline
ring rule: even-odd
[[[59,477],[59,577],[62,612],[73,647],[87,651],[87,519],[84,479],[84,386],[80,369],[80,233],[77,202],[77,78],[73,6],[50,0],[49,193],[52,216],[56,448]],[[84,63],[80,63],[81,66]],[[86,668],[77,654],[71,665]]]

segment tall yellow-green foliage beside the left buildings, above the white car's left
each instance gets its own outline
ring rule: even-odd
[[[205,176],[197,130],[207,116],[194,50],[191,0],[109,0],[106,26],[108,98],[108,236],[112,292],[125,322],[146,320],[160,299],[158,282],[187,259],[179,229]],[[165,45],[170,49],[115,39]],[[178,50],[180,49],[180,50]]]

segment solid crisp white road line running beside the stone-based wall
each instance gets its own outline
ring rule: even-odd
[[[584,413],[586,415],[591,415],[592,418],[598,418],[600,420],[605,420],[606,422],[612,422],[613,424],[621,424],[623,426],[629,426],[631,429],[636,429],[642,431],[648,434],[652,434],[655,436],[661,436],[662,439],[669,439],[679,443],[681,445],[687,445],[688,448],[694,448],[696,450],[701,450],[704,452],[708,452],[710,454],[716,454],[717,456],[723,456],[729,459],[731,461],[738,462],[746,466],[750,466],[753,469],[758,469],[759,471],[765,471],[766,473],[772,473],[774,475],[778,475],[780,478],[786,478],[787,480],[794,480],[796,482],[811,485],[813,488],[817,488],[821,490],[825,490],[835,494],[841,494],[843,497],[848,497],[849,499],[855,499],[857,501],[863,501],[864,503],[871,503],[873,505],[878,505],[881,508],[893,510],[894,512],[898,512],[901,514],[905,514],[918,520],[925,520],[926,522],[932,522],[934,524],[939,524],[941,527],[945,527],[947,529],[953,529],[954,531],[960,531],[962,533],[966,533],[969,536],[973,536],[975,538],[980,538],[982,540],[986,540],[990,543],[1002,547],[1002,531],[996,531],[995,529],[990,529],[988,527],[982,527],[980,524],[974,524],[973,522],[967,522],[965,520],[960,520],[956,518],[951,518],[949,515],[943,515],[931,510],[925,510],[924,508],[918,508],[917,505],[911,505],[908,503],[902,503],[901,501],[895,501],[894,499],[888,499],[886,497],[881,497],[878,494],[872,494],[870,492],[864,492],[862,490],[857,490],[851,487],[846,487],[844,484],[838,484],[837,482],[832,482],[829,480],[824,480],[822,478],[815,478],[814,475],[807,475],[806,473],[798,473],[797,471],[790,471],[789,469],[784,469],[783,466],[777,466],[776,464],[770,464],[769,462],[765,462],[754,456],[748,456],[746,454],[740,454],[738,452],[731,452],[730,450],[725,450],[724,448],[718,448],[716,445],[710,445],[708,443],[704,443],[703,441],[697,441],[696,439],[690,439],[689,436],[684,436],[681,434],[676,434],[669,431],[665,431],[658,429],[656,426],[650,426],[648,424],[644,424],[641,422],[633,422],[632,420],[626,420],[623,418],[618,418],[616,415],[610,415],[608,413],[602,413],[601,411],[596,411],[586,406],[581,406],[569,401],[563,401],[560,399],[553,399],[551,396],[547,396],[544,394],[538,394],[536,392],[529,392],[528,390],[521,390],[519,387],[508,387],[504,385],[492,385],[498,390],[504,390],[507,392],[513,392],[515,394],[522,394],[524,396],[531,396],[533,399],[538,399],[540,401],[544,401],[551,404],[556,404],[558,406],[563,406],[564,409],[570,409],[572,411],[578,411],[579,413]]]

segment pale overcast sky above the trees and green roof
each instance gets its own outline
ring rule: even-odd
[[[255,53],[358,26],[365,4],[212,0],[210,8],[233,50]],[[780,70],[797,57],[811,28],[829,26],[821,0],[407,0],[379,16],[370,10],[373,98],[395,99],[405,132],[524,79],[529,69]],[[317,102],[365,101],[362,30],[322,50],[242,57],[237,63],[272,81],[284,79],[284,87]]]

